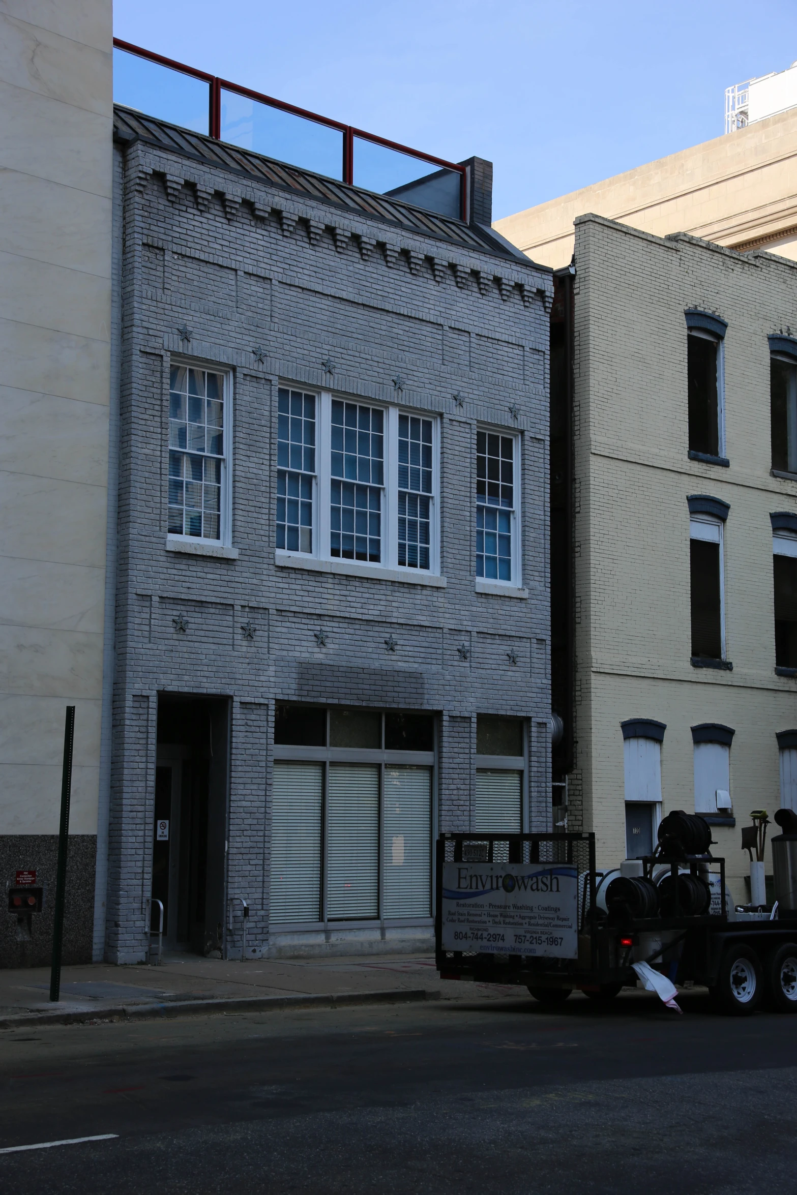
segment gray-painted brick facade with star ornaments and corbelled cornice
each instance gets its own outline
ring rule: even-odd
[[[141,142],[117,155],[123,315],[106,951],[124,962],[141,958],[147,940],[163,691],[232,698],[227,890],[250,900],[250,944],[268,937],[275,700],[439,712],[445,829],[470,825],[476,713],[527,717],[531,817],[533,828],[547,827],[552,284],[532,263],[244,184]],[[174,357],[233,373],[234,560],[165,549]],[[446,588],[275,565],[280,381],[440,416]],[[525,600],[474,592],[480,423],[522,433]],[[180,613],[184,633],[172,623]],[[240,632],[247,620],[253,639]],[[325,648],[313,637],[319,626]],[[391,635],[396,652],[385,649]],[[228,949],[240,949],[239,932],[237,923]]]

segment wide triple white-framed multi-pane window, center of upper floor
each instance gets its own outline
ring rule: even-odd
[[[277,557],[437,574],[437,418],[288,387],[277,404]]]

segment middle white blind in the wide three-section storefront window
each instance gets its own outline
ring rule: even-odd
[[[330,764],[326,915],[379,915],[379,767]]]

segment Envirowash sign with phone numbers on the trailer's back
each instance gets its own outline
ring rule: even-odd
[[[578,877],[556,863],[446,863],[442,949],[578,956]]]

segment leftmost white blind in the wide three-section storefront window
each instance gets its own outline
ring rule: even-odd
[[[321,764],[274,764],[270,921],[318,921],[321,880]]]

